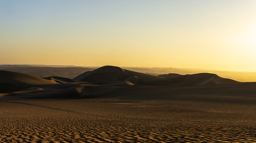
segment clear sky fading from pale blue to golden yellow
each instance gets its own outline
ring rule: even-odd
[[[254,0],[0,0],[0,64],[256,71]]]

